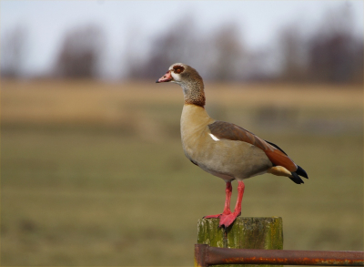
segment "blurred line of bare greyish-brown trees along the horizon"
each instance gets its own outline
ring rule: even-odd
[[[222,25],[201,35],[193,17],[183,18],[148,44],[146,57],[138,56],[130,42],[121,60],[127,64],[126,78],[154,79],[175,62],[183,61],[200,70],[209,80],[272,80],[284,82],[363,82],[363,40],[355,36],[348,10],[326,15],[312,33],[290,24],[278,32],[278,49],[249,50],[237,24]],[[183,27],[179,25],[183,23]],[[176,30],[178,28],[178,30]],[[1,75],[19,77],[26,50],[25,27],[15,27],[2,38]],[[106,34],[96,25],[69,30],[57,53],[52,77],[96,78],[100,76],[106,49]],[[271,58],[281,56],[273,66]],[[278,69],[278,70],[277,70]]]

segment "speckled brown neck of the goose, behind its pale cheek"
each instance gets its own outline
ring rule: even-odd
[[[181,84],[185,96],[185,104],[205,106],[206,98],[204,92],[204,82],[196,72],[186,74],[186,82]]]

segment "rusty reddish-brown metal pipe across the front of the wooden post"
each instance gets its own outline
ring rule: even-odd
[[[364,252],[240,250],[195,245],[195,266],[217,264],[364,266]]]

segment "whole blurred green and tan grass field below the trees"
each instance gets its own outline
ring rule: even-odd
[[[1,82],[1,265],[191,266],[225,185],[184,156],[180,87]],[[242,216],[285,249],[363,250],[363,92],[207,84],[207,111],[277,143],[309,180],[246,181]],[[233,182],[233,200],[237,183]]]

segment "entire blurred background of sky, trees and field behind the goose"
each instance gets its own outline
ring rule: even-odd
[[[175,62],[308,171],[247,180],[241,216],[363,250],[363,3],[1,1],[1,265],[193,265],[225,184],[184,156]]]

